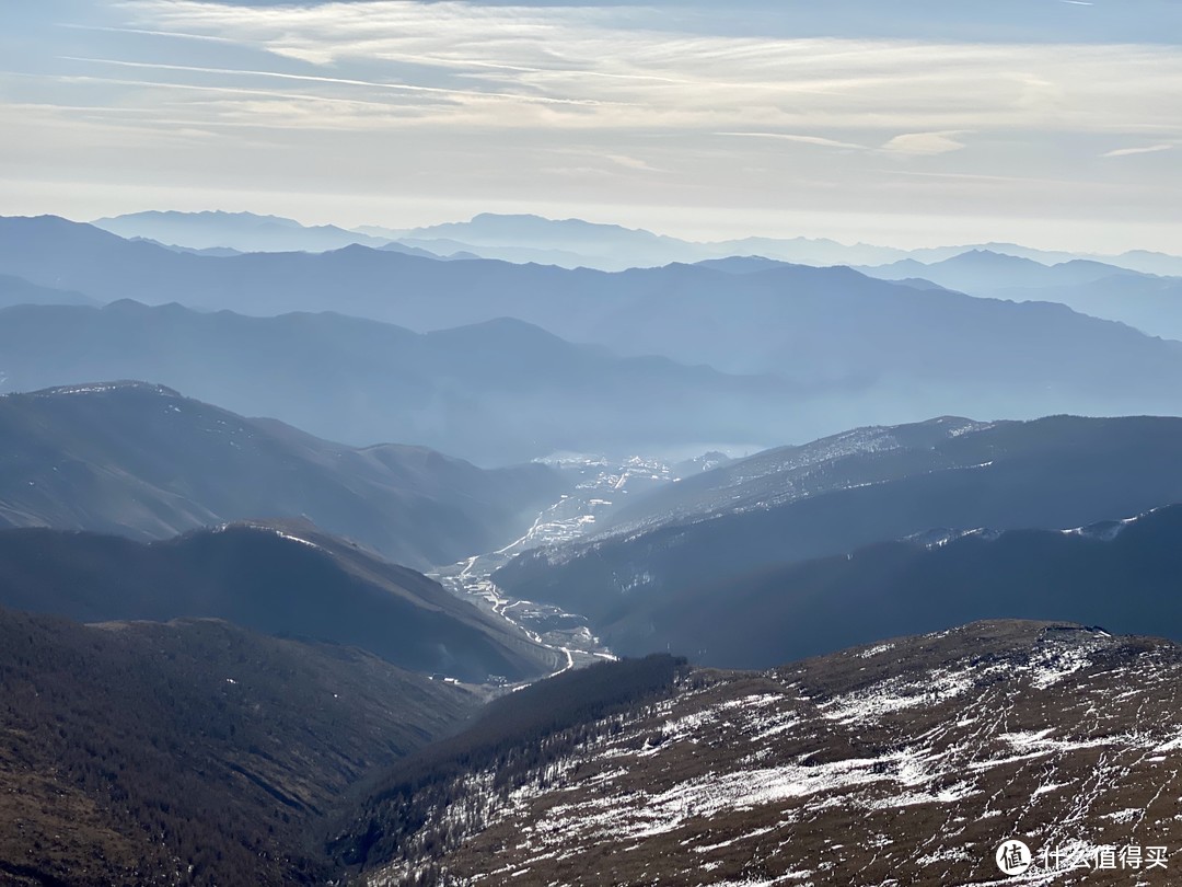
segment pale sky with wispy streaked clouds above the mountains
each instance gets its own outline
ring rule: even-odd
[[[0,215],[1182,252],[1182,2],[0,4]]]

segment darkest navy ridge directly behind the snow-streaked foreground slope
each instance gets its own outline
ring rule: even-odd
[[[636,655],[767,668],[884,635],[980,619],[1063,616],[1182,640],[1182,505],[1076,532],[929,533],[637,595],[597,633]]]

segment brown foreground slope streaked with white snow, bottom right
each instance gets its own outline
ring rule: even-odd
[[[486,828],[365,882],[1007,882],[1019,837],[1021,882],[1128,882],[1136,850],[1168,883],[1180,675],[1167,641],[1013,621],[694,671],[504,797],[469,773]]]

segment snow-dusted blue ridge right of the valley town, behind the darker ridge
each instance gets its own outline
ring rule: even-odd
[[[755,457],[752,479],[745,460],[686,481],[686,501],[706,503],[702,513],[674,501],[663,506],[668,523],[527,552],[494,578],[513,596],[610,624],[655,595],[674,601],[753,570],[937,527],[1061,530],[1182,501],[1178,419],[959,420],[820,444],[805,448],[808,459],[792,449]]]

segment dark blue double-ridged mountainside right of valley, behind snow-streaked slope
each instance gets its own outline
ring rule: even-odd
[[[528,551],[493,581],[587,616],[619,652],[722,666],[1005,615],[1182,639],[1168,601],[1151,615],[1177,570],[1177,511],[1162,506],[1182,503],[1180,446],[1182,420],[1148,416],[860,429],[668,485],[615,530]],[[1155,509],[1111,543],[1060,532]],[[1013,532],[923,544],[979,527]]]

